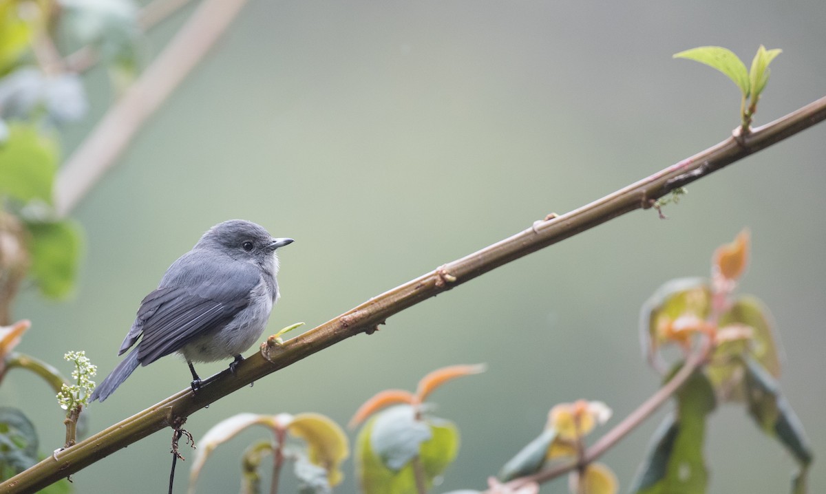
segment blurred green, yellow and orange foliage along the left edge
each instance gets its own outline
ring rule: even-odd
[[[83,255],[78,222],[53,208],[61,159],[57,135],[88,113],[86,89],[69,64],[70,54],[55,46],[58,32],[69,39],[67,45],[134,69],[137,8],[129,0],[0,1],[0,381],[10,368],[24,368],[51,387],[64,384],[55,368],[12,352],[28,322],[10,324],[17,291],[26,286],[22,278],[31,278],[45,297],[66,297]],[[0,410],[0,478],[36,463],[37,446],[35,427],[22,411]],[[69,491],[63,480],[41,492]]]

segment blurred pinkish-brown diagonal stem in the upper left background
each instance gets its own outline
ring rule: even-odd
[[[55,209],[66,216],[126,150],[145,121],[207,55],[246,0],[203,0],[164,51],[69,156],[55,183]]]

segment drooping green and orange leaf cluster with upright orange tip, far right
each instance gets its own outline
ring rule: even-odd
[[[712,257],[710,280],[684,278],[664,284],[643,305],[640,334],[649,361],[662,362],[669,344],[688,354],[708,345],[707,361],[677,392],[676,415],[654,435],[632,492],[707,492],[709,473],[702,444],[706,416],[719,402],[743,402],[765,431],[800,464],[792,492],[804,492],[812,459],[800,421],[781,397],[777,344],[771,316],[757,297],[734,296],[746,271],[749,235],[743,230]],[[669,378],[682,366],[676,363]]]

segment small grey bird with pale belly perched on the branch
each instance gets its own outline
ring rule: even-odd
[[[234,358],[230,370],[235,372],[244,359],[241,352],[259,339],[278,301],[275,249],[287,244],[292,239],[274,239],[249,221],[213,226],[140,302],[118,355],[140,341],[95,388],[91,400],[106,400],[139,363],[175,352],[189,364],[193,390],[201,384],[193,362]]]

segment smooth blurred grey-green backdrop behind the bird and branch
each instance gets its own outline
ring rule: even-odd
[[[148,59],[192,8],[150,34]],[[204,230],[236,217],[296,239],[280,251],[282,299],[268,330],[320,324],[724,140],[738,125],[738,89],[672,60],[678,51],[724,45],[748,64],[760,44],[782,48],[757,125],[824,96],[824,21],[826,3],[800,0],[249,2],[74,211],[87,235],[76,293],[69,302],[22,294],[14,315],[33,325],[18,349],[65,373],[64,352],[85,349],[102,378],[164,270]],[[64,133],[67,153],[112,99],[102,69],[87,81],[92,115]],[[692,184],[667,221],[634,212],[404,311],[377,334],[215,403],[187,429],[198,438],[241,411],[318,411],[344,424],[382,389],[412,389],[448,364],[487,363],[487,373],[432,397],[463,435],[434,492],[485,487],[553,404],[605,401],[610,426],[648,397],[659,378],[641,359],[640,305],[671,278],[706,275],[713,249],[748,227],[741,292],[761,297],[776,320],[781,385],[816,456],[810,492],[824,492],[824,137],[816,126]],[[90,430],[189,380],[175,358],[140,368],[89,408]],[[31,413],[41,449],[63,443],[44,383],[12,373],[0,400]],[[605,455],[623,492],[663,414]],[[794,463],[743,407],[719,408],[707,433],[710,492],[789,491]],[[237,492],[240,452],[265,434],[221,447],[198,492]],[[152,435],[77,473],[76,492],[163,492],[170,437]],[[185,492],[188,463],[179,463],[176,492]],[[345,471],[336,492],[356,492],[352,460]]]

